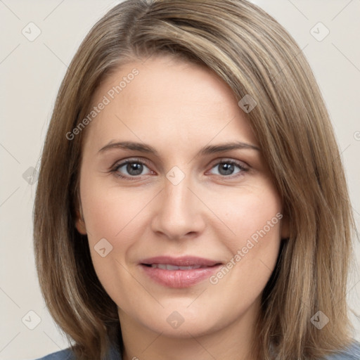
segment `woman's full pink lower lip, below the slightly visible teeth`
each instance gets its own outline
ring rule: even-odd
[[[164,270],[141,265],[143,271],[157,283],[169,288],[188,288],[210,278],[221,265],[191,270]]]

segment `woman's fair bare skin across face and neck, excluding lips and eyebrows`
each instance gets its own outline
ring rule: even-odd
[[[283,220],[212,284],[168,288],[143,273],[146,257],[194,255],[226,264],[282,204],[259,150],[243,148],[197,155],[208,145],[259,143],[229,86],[207,68],[158,56],[123,65],[101,83],[94,104],[136,68],[133,81],[86,128],[80,172],[82,217],[94,268],[119,309],[125,360],[253,359],[254,325],[262,290],[276,264]],[[155,150],[112,148],[110,141],[146,143]],[[140,175],[114,165],[146,160]],[[234,160],[224,175],[219,162]],[[179,167],[184,179],[167,173]],[[113,250],[101,257],[94,246],[105,238]],[[184,319],[172,328],[167,317]]]

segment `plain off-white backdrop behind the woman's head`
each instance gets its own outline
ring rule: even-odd
[[[31,174],[72,56],[96,20],[118,2],[0,0],[0,359],[35,359],[68,347],[44,306],[35,272],[32,208],[37,183]],[[360,1],[253,2],[295,37],[314,70],[342,151],[359,226]],[[354,245],[359,264],[357,240]],[[358,312],[359,290],[355,268],[347,297]],[[352,319],[354,337],[360,340],[360,322]]]

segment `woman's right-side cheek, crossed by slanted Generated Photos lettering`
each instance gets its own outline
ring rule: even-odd
[[[271,186],[261,188],[264,190],[247,189],[242,195],[223,198],[223,205],[217,209],[226,224],[221,232],[229,258],[210,282],[221,289],[219,293],[230,286],[236,294],[234,299],[241,298],[248,304],[269,280],[281,243],[281,200]]]

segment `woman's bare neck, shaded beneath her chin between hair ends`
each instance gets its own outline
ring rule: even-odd
[[[252,344],[259,304],[233,323],[203,335],[175,338],[155,333],[119,310],[124,342],[123,360],[255,360]]]

